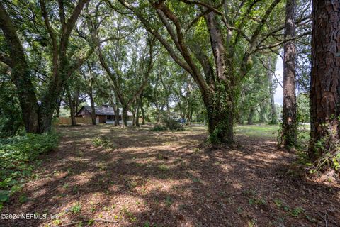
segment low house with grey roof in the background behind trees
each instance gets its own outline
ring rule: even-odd
[[[115,123],[115,111],[108,105],[95,106],[96,123]],[[77,117],[91,118],[91,106],[83,106],[77,113]],[[119,110],[119,123],[122,123],[122,109]],[[128,111],[128,123],[132,123],[132,113]]]

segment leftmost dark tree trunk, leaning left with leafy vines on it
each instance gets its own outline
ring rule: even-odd
[[[7,57],[1,58],[1,61],[6,62],[12,69],[11,79],[16,86],[26,132],[40,133],[39,106],[31,80],[30,69],[16,29],[1,2],[0,28],[4,33],[10,52],[10,57],[8,59],[6,59]]]

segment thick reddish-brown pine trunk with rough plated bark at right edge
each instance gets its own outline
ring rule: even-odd
[[[312,79],[310,157],[317,159],[340,138],[340,2],[314,0],[312,6]],[[316,146],[322,142],[323,149]]]

